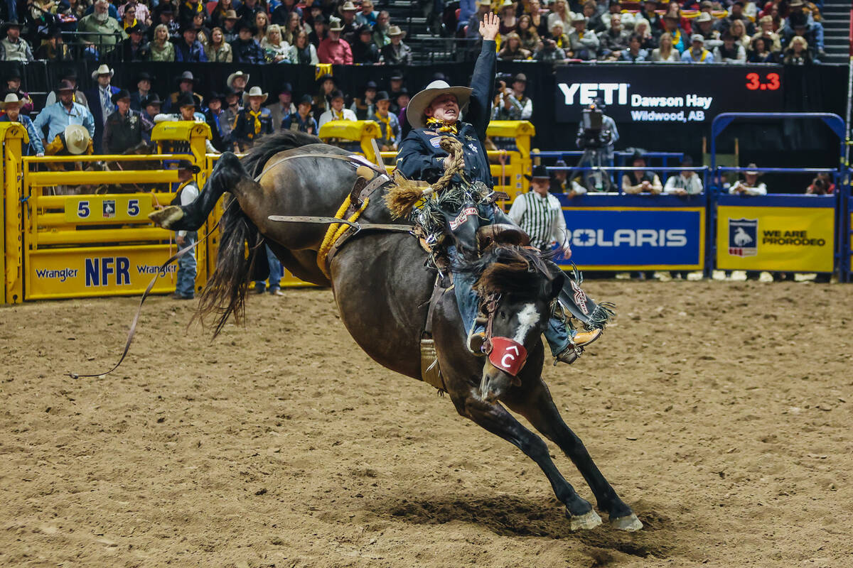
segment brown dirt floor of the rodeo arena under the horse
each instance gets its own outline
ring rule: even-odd
[[[252,297],[213,342],[154,298],[119,371],[79,380],[138,300],[45,301],[0,308],[0,566],[853,565],[853,288],[585,287],[617,323],[547,380],[639,533],[569,531],[538,468],[368,359],[328,290]]]

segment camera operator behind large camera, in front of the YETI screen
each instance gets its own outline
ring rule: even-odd
[[[619,132],[616,123],[604,111],[601,98],[596,98],[583,109],[575,141],[577,147],[583,150],[583,156],[577,163],[578,168],[613,166],[613,145],[619,140]],[[590,192],[614,191],[609,171],[583,170],[583,183]]]

